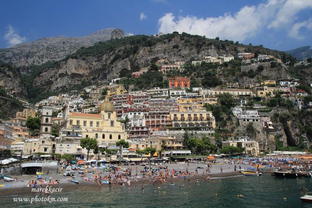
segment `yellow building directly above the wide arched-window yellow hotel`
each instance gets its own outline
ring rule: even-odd
[[[179,111],[192,111],[193,109],[201,109],[204,107],[203,97],[201,95],[195,96],[180,96],[176,99],[179,104]]]

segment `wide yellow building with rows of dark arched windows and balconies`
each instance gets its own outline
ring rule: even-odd
[[[214,130],[215,117],[212,112],[204,109],[170,113],[173,129]]]

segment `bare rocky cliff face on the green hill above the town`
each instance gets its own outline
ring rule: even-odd
[[[91,77],[94,81],[113,79],[123,76],[120,75],[121,70],[135,72],[147,69],[151,63],[169,64],[176,61],[203,60],[207,55],[233,56],[237,51],[246,51],[246,47],[241,44],[235,45],[230,41],[222,42],[190,35],[170,34],[161,38],[128,37],[120,41],[110,41],[80,49],[60,61],[56,67],[44,70],[36,77],[34,83],[38,87],[44,87],[46,91],[58,92],[59,89],[69,88]],[[257,50],[260,50],[259,53],[278,56],[276,51]],[[272,68],[269,67],[261,73],[272,79],[287,77],[285,69],[279,67],[275,71],[273,73]],[[230,81],[234,78],[221,73],[219,76]],[[244,83],[248,81],[245,80]],[[254,78],[253,82],[257,82],[257,78]]]

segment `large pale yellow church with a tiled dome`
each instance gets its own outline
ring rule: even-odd
[[[124,125],[117,121],[114,106],[104,101],[98,108],[99,114],[70,113],[63,107],[63,122],[60,124],[62,140],[78,142],[81,138],[96,138],[100,148],[116,149],[116,141],[127,139]]]

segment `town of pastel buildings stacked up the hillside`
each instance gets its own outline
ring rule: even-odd
[[[254,58],[252,53],[239,53],[236,57],[255,68],[265,59],[281,64],[280,58],[266,55]],[[192,61],[192,64],[221,64],[231,60],[234,56],[206,56],[204,60]],[[183,70],[184,64],[183,61],[160,64],[158,68],[165,76],[170,71]],[[241,66],[242,71],[245,66]],[[132,76],[139,77],[146,72],[147,69],[134,72]],[[278,107],[278,103],[274,105],[273,102],[268,106],[276,95],[285,99],[293,109],[312,108],[312,102],[304,99],[308,92],[298,87],[301,84],[312,87],[312,83],[302,83],[293,78],[263,80],[244,86],[238,82],[224,82],[222,86],[203,89],[190,88],[188,77],[171,76],[167,78],[167,88],[140,91],[126,90],[119,84],[122,79],[88,86],[79,92],[73,90],[49,96],[35,105],[20,99],[24,110],[17,112],[15,118],[1,121],[0,148],[11,149],[24,159],[46,159],[56,154],[83,159],[87,150],[80,146],[80,139],[95,138],[101,151],[90,151],[90,158],[125,163],[138,163],[153,157],[161,160],[173,156],[185,159],[195,154],[182,142],[186,134],[190,133],[192,137],[211,137],[215,134],[216,118],[209,106],[220,105],[220,95],[228,95],[233,101],[231,111],[238,126],[246,127],[253,123],[267,132],[274,130],[274,123],[265,112],[270,112],[270,107]],[[37,135],[32,134],[26,125],[28,118],[35,117],[40,117]],[[116,143],[120,140],[128,141],[129,147],[121,152],[115,151],[115,154],[107,153],[107,150],[117,150]],[[240,146],[242,153],[250,156],[268,151],[259,146],[255,138],[244,134],[222,138],[222,147],[226,146]],[[140,152],[149,148],[155,148],[153,155],[151,152]]]

